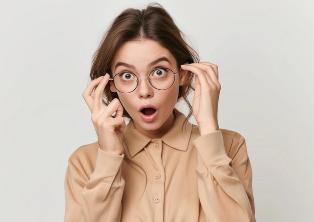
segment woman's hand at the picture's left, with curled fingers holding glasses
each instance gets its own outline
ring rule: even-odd
[[[122,136],[125,129],[123,107],[118,99],[113,99],[107,107],[104,107],[102,103],[102,93],[109,78],[109,74],[106,74],[92,80],[83,92],[83,98],[92,112],[92,122],[100,148],[105,152],[121,155],[123,153]],[[95,87],[97,88],[94,91]]]

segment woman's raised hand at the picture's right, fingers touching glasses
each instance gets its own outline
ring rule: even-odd
[[[192,107],[201,135],[219,130],[218,100],[221,86],[218,81],[218,66],[202,62],[182,65],[181,68],[195,73]]]

